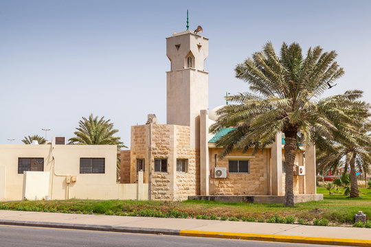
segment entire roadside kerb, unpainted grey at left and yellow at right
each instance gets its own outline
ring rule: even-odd
[[[371,247],[371,240],[367,239],[340,239],[333,237],[303,237],[290,235],[273,235],[273,234],[254,234],[254,233],[226,233],[216,231],[193,231],[193,230],[172,230],[163,228],[143,228],[131,226],[109,226],[109,225],[92,225],[92,224],[71,224],[56,222],[31,222],[22,220],[0,220],[0,225],[12,226],[36,226],[48,228],[67,228],[76,230],[89,231],[111,231],[119,233],[146,233],[146,234],[163,234],[177,235],[186,237],[216,237],[225,239],[247,239],[269,242],[289,242],[300,244],[327,244],[337,246],[366,246]]]

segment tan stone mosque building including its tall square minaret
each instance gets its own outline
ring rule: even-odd
[[[121,183],[136,183],[142,171],[150,200],[283,202],[282,134],[262,152],[218,158],[222,149],[215,143],[227,131],[209,132],[221,106],[208,110],[208,45],[208,38],[189,30],[166,38],[166,124],[150,114],[146,124],[131,127],[131,150],[121,151]],[[298,150],[295,165],[295,202],[321,200],[315,148]]]

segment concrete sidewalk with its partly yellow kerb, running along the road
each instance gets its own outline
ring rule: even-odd
[[[166,235],[197,237],[223,237],[306,244],[371,246],[371,228],[344,228],[339,226],[303,226],[297,224],[80,215],[5,210],[0,211],[0,224],[126,233],[161,233]]]

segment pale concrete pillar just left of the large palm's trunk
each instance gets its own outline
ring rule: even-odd
[[[271,194],[272,196],[282,196],[282,133],[276,134],[276,141],[271,149]]]

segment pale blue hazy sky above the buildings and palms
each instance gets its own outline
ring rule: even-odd
[[[166,40],[203,27],[210,38],[210,109],[248,91],[234,67],[271,41],[335,49],[346,74],[326,95],[365,91],[371,102],[371,1],[0,0],[0,143],[52,129],[74,136],[82,116],[130,126],[155,113],[166,123]]]

